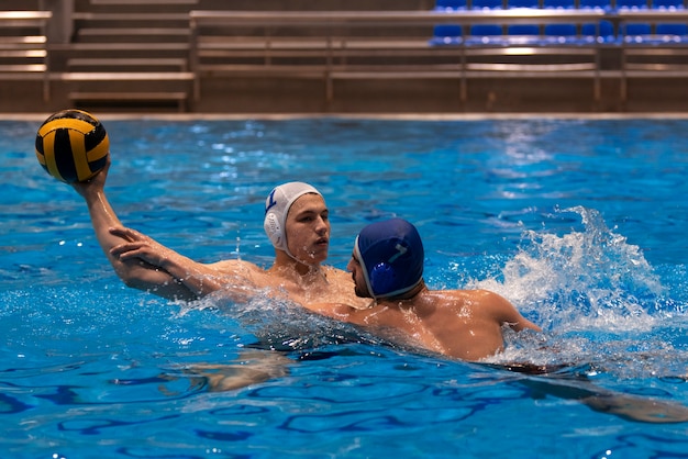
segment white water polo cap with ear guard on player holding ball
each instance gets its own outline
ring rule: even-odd
[[[290,181],[275,187],[265,200],[265,221],[263,227],[273,246],[279,250],[285,250],[293,258],[287,247],[287,214],[291,204],[303,194],[313,193],[322,198],[320,191],[302,181]],[[323,198],[324,200],[324,198]]]

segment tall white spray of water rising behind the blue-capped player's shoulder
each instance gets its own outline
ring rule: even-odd
[[[545,328],[647,331],[666,289],[642,250],[607,227],[600,213],[576,206],[582,231],[557,235],[526,231],[519,253],[501,270],[502,281],[473,282],[509,298]]]

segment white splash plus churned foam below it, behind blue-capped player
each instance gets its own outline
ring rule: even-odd
[[[675,313],[665,306],[667,289],[642,250],[609,229],[599,212],[577,206],[553,217],[572,214],[580,219],[582,231],[526,231],[500,279],[467,286],[500,293],[544,328],[544,339],[509,336],[512,346],[496,360],[608,366],[637,360],[640,350],[645,362],[656,358],[662,365],[673,346],[653,331]]]

